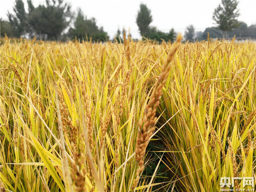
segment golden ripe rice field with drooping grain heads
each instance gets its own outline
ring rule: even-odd
[[[221,177],[255,181],[255,42],[181,39],[2,39],[1,191],[215,192]]]

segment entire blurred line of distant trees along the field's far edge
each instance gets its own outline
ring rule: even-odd
[[[92,41],[108,41],[109,36],[98,27],[95,18],[87,19],[81,9],[77,14],[71,12],[71,5],[65,1],[45,1],[35,7],[31,0],[27,1],[28,12],[25,11],[23,1],[15,1],[13,6],[14,14],[7,13],[8,20],[0,20],[1,37],[5,34],[9,37],[33,38],[36,36],[42,40],[62,40],[78,39]],[[238,1],[221,1],[221,4],[214,10],[212,19],[216,27],[206,28],[202,31],[195,31],[193,25],[189,25],[185,30],[185,41],[206,40],[209,32],[212,38],[225,37],[250,37],[256,38],[256,25],[247,26],[246,23],[238,21],[239,10]],[[162,32],[155,26],[150,26],[153,21],[150,9],[146,4],[140,4],[140,10],[136,16],[142,39],[152,39],[156,42],[171,41],[176,38],[174,29],[169,32]],[[124,35],[123,30],[123,35]],[[131,37],[131,34],[129,34]],[[123,42],[121,31],[118,29],[115,41]]]

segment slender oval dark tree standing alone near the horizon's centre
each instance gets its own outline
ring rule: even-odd
[[[136,17],[136,23],[140,30],[140,35],[145,36],[149,31],[149,24],[152,22],[151,11],[145,4],[140,4],[140,11]]]

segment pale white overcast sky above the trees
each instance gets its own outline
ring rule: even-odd
[[[140,3],[147,5],[151,10],[153,22],[150,26],[156,26],[159,30],[168,32],[174,28],[176,32],[184,31],[188,25],[193,24],[196,31],[204,31],[207,27],[214,26],[212,13],[221,3],[220,0],[70,0],[72,11],[81,8],[87,18],[96,18],[97,25],[102,26],[104,31],[112,39],[116,31],[123,28],[131,28],[133,38],[140,38],[139,28],[136,24],[136,15]],[[33,1],[37,6],[43,1]],[[7,19],[6,13],[13,12],[14,0],[1,0],[0,17]],[[25,7],[27,3],[25,2]],[[248,26],[256,24],[256,0],[240,0],[238,20],[244,21]]]

